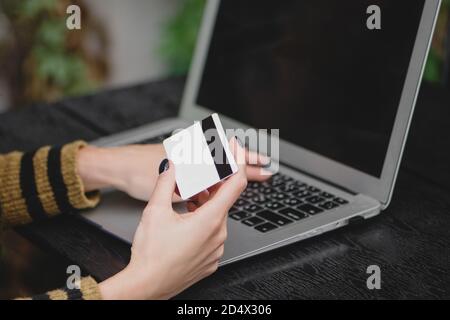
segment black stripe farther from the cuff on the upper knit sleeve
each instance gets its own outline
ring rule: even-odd
[[[22,156],[20,163],[20,188],[22,196],[28,208],[28,213],[33,220],[42,220],[47,218],[44,207],[38,196],[36,188],[36,179],[33,166],[34,152],[27,152]]]

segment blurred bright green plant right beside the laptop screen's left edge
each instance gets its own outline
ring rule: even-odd
[[[188,72],[206,0],[183,0],[177,14],[165,25],[159,53],[171,75]]]

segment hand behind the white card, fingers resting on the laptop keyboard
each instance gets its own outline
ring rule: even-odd
[[[164,147],[157,145],[131,145],[116,148],[87,146],[77,159],[78,173],[86,191],[115,188],[131,197],[148,201],[158,179],[158,166],[166,158]],[[270,159],[245,151],[248,164],[245,172],[249,181],[265,181],[271,173],[263,168]],[[173,201],[181,199],[174,195]]]

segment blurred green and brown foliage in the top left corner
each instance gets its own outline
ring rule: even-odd
[[[11,29],[0,42],[2,69],[7,71],[0,77],[7,77],[14,87],[13,104],[83,94],[95,89],[106,75],[103,57],[92,56],[84,48],[85,8],[83,30],[67,29],[70,4],[83,7],[83,0],[0,0]],[[94,32],[102,31],[96,25]]]

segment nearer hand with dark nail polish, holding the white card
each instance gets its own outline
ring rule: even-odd
[[[237,146],[236,141],[232,142]],[[238,154],[245,151],[236,147]],[[245,163],[195,211],[172,208],[175,169],[157,181],[135,234],[129,265],[100,284],[104,299],[167,299],[217,270],[227,237],[228,211],[247,185]]]

